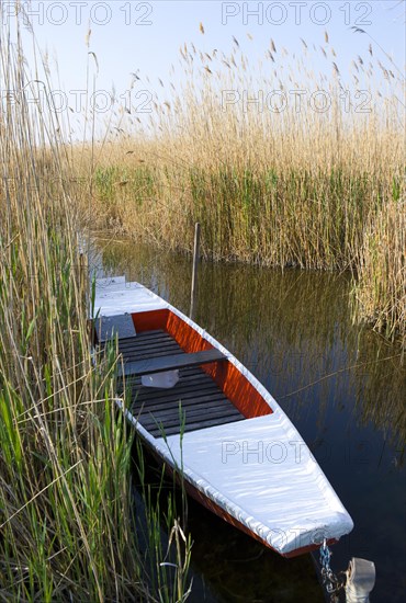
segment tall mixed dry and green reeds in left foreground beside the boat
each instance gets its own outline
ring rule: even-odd
[[[21,31],[3,26],[1,89],[30,80]],[[98,371],[90,355],[89,280],[60,124],[23,96],[4,99],[0,120],[0,599],[183,600],[189,544],[177,528],[168,559],[179,569],[160,566],[159,501],[142,459],[143,522],[134,511],[132,439],[114,405],[117,354]]]

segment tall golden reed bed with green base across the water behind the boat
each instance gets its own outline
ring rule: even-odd
[[[405,343],[402,244],[387,248],[388,270],[364,259],[381,216],[398,214],[387,229],[404,227],[404,80],[372,46],[348,81],[327,34],[320,50],[305,42],[303,50],[292,62],[271,42],[257,67],[237,42],[228,56],[182,48],[185,83],[163,88],[149,122],[122,112],[98,150],[99,224],[190,251],[199,220],[203,253],[216,260],[351,269],[360,278],[358,316],[379,316],[375,326]],[[318,55],[330,77],[308,70]],[[294,90],[305,91],[300,105]],[[318,111],[325,102],[328,111]],[[371,271],[380,295],[366,293]]]

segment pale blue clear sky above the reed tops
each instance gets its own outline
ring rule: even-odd
[[[3,0],[2,4],[3,22],[12,23],[14,2]],[[325,46],[327,31],[337,55],[329,58],[328,69],[332,60],[346,71],[358,56],[368,59],[372,44],[374,57],[391,65],[396,77],[405,71],[405,0],[44,0],[22,4],[38,46],[48,54],[55,98],[61,110],[70,106],[74,113],[83,110],[88,68],[100,113],[110,109],[113,96],[143,113],[160,90],[159,79],[180,86],[184,73],[178,68],[179,49],[184,43],[189,48],[193,43],[203,53],[217,49],[228,55],[235,38],[253,65],[271,49],[271,39],[277,49],[283,46],[292,57],[303,53],[304,43]],[[29,45],[29,62],[32,57]],[[308,60],[316,71],[326,69],[320,53]],[[57,98],[59,90],[64,96]]]

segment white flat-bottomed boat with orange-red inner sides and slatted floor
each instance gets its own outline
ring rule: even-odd
[[[94,310],[99,343],[119,337],[128,420],[193,498],[286,557],[352,530],[283,410],[216,340],[124,277],[97,282]]]

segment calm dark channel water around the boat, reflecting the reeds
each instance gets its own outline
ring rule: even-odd
[[[98,242],[95,263],[189,312],[190,260]],[[195,320],[271,391],[351,514],[332,568],[375,562],[372,602],[405,601],[405,366],[353,326],[346,276],[202,263]],[[193,601],[317,602],[311,556],[284,560],[190,501]]]

